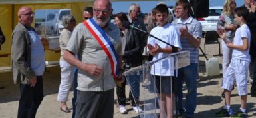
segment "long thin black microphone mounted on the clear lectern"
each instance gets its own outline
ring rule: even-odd
[[[128,22],[128,21],[122,21],[122,27],[124,27],[126,29],[129,29],[129,27],[131,27],[132,29],[135,29],[135,30],[140,31],[142,33],[146,33],[150,37],[154,37],[154,39],[157,39],[158,41],[161,41],[162,43],[170,45],[172,47],[172,53],[176,53],[176,52],[180,51],[180,49],[178,49],[178,47],[176,47],[174,45],[171,45],[170,43],[167,43],[166,41],[162,41],[158,37],[155,37],[154,35],[151,35],[150,33],[148,33],[148,31],[144,31],[144,30],[142,30],[142,29],[140,29],[138,27],[135,27],[134,25],[130,25],[130,22]]]

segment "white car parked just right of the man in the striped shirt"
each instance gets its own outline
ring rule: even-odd
[[[217,22],[219,20],[219,16],[222,13],[222,10],[223,6],[209,7],[209,16],[197,19],[202,25],[203,33],[205,33],[205,31],[217,30]]]

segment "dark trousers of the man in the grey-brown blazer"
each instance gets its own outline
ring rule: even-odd
[[[18,118],[35,118],[37,109],[43,101],[43,77],[37,76],[35,87],[20,84]]]

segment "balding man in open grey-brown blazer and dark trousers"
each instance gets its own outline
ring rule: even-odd
[[[39,35],[31,27],[34,13],[29,7],[18,11],[19,23],[11,35],[13,80],[20,84],[18,118],[33,118],[43,101],[45,54]]]

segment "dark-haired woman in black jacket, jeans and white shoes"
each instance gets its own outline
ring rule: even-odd
[[[121,31],[121,40],[122,40],[122,47],[124,51],[123,59],[124,59],[124,69],[128,70],[132,67],[136,67],[139,65],[142,65],[142,52],[141,52],[141,41],[138,31],[135,31],[134,29],[126,29],[122,26],[122,21],[128,21],[128,18],[125,13],[118,13],[114,16],[115,24],[118,26],[118,28]],[[140,83],[140,75],[134,74],[129,76],[129,78],[126,78],[126,81],[130,83],[130,94],[129,99],[131,101],[131,105],[133,106],[134,111],[136,113],[142,112],[142,109],[136,105],[139,100],[140,96],[140,90],[139,90],[139,83]],[[126,81],[122,83],[120,87],[116,87],[117,91],[116,94],[118,96],[118,105],[120,109],[120,113],[124,114],[127,113],[125,108],[125,101],[126,101],[126,95],[125,95],[125,85]],[[132,92],[132,93],[131,93]],[[132,99],[133,97],[134,99]]]

